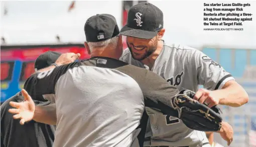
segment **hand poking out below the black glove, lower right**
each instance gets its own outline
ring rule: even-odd
[[[222,126],[218,132],[220,136],[227,141],[227,145],[230,145],[230,143],[233,141],[233,128],[230,124],[224,121],[221,122],[221,125]]]

